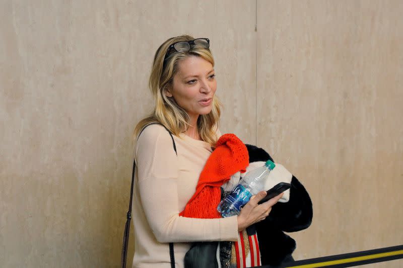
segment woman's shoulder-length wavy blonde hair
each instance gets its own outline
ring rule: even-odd
[[[180,133],[187,130],[189,116],[186,111],[178,106],[173,98],[168,98],[165,91],[172,85],[173,77],[178,72],[179,61],[188,56],[197,56],[209,61],[214,67],[214,58],[209,48],[194,45],[188,52],[174,52],[167,59],[165,54],[170,45],[180,41],[190,41],[194,38],[190,35],[181,35],[166,40],[155,53],[151,69],[149,87],[154,96],[155,106],[152,114],[141,120],[135,128],[135,137],[148,124],[158,122],[164,125],[171,133],[179,137]],[[216,130],[221,115],[221,103],[216,96],[213,98],[212,110],[207,115],[200,115],[197,119],[197,131],[200,138],[210,143],[213,147],[217,142]]]

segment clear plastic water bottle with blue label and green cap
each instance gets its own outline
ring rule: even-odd
[[[231,194],[221,200],[218,205],[217,210],[221,216],[226,218],[238,215],[251,196],[263,190],[264,181],[275,166],[275,163],[267,160],[263,166],[247,172]]]

